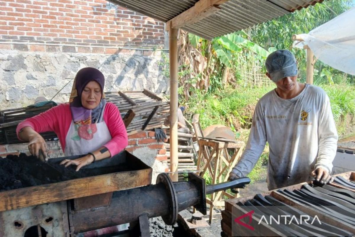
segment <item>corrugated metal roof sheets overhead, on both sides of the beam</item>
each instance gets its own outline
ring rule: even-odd
[[[323,0],[229,0],[220,10],[182,29],[212,39],[269,21]],[[191,8],[198,0],[110,0],[127,9],[167,22]]]

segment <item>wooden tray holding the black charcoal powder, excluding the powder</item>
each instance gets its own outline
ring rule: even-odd
[[[48,162],[58,163],[67,158],[75,159],[78,156],[52,158]],[[96,170],[120,164],[129,166],[130,170],[0,192],[0,211],[82,198],[151,184],[152,168],[126,151],[110,159],[92,163],[82,169]]]

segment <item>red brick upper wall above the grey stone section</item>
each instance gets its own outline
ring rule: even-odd
[[[164,46],[163,22],[104,0],[0,0],[0,9],[1,43],[15,43],[15,50],[49,50],[28,43],[83,53],[87,47]]]

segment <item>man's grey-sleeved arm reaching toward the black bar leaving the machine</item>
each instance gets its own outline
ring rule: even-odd
[[[233,176],[233,173],[237,177],[247,176],[256,165],[256,162],[259,160],[261,153],[265,148],[265,145],[265,119],[262,113],[261,105],[258,102],[254,111],[253,122],[251,125],[248,142],[240,158],[240,161],[233,168],[231,176]]]

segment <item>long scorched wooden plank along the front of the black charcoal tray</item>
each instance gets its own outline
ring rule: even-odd
[[[53,203],[151,184],[152,170],[103,174],[0,192],[0,211]]]

